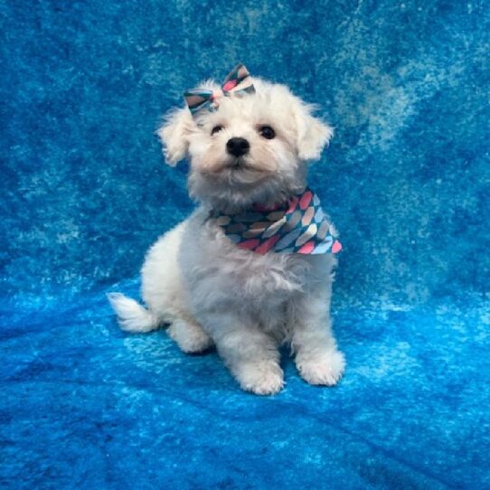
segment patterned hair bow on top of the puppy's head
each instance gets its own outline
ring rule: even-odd
[[[184,99],[191,114],[194,116],[204,108],[214,112],[220,104],[219,99],[221,97],[229,97],[231,93],[240,92],[255,92],[250,73],[241,63],[228,73],[221,85],[221,89],[215,91],[205,89],[187,90],[184,92]]]

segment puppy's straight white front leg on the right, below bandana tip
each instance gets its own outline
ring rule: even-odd
[[[289,308],[292,346],[301,377],[311,384],[335,385],[344,373],[344,354],[337,350],[330,320],[330,289],[308,291]]]

